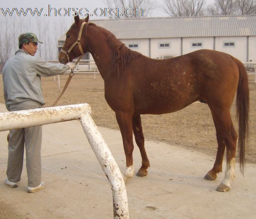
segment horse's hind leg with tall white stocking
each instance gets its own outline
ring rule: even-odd
[[[225,177],[217,187],[219,192],[227,192],[230,189],[230,181],[235,177],[235,155],[237,133],[231,120],[230,109],[220,108],[219,106],[211,108],[214,114],[215,123],[218,126],[220,135],[226,145],[226,171]],[[223,150],[223,149],[222,149]]]

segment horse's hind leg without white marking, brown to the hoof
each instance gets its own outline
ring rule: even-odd
[[[214,126],[216,129],[218,149],[217,149],[217,155],[216,155],[216,159],[212,167],[212,170],[207,172],[207,174],[204,176],[205,180],[215,180],[217,178],[217,173],[222,172],[222,162],[223,162],[223,156],[225,152],[224,139],[222,138],[221,131],[218,128],[218,125],[213,113],[212,113],[212,118],[213,118]]]

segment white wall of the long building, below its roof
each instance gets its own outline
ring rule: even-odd
[[[151,58],[177,57],[181,55],[181,38],[161,39],[122,39],[128,47],[129,44],[138,44],[138,48],[131,48]],[[192,44],[202,43],[193,47]],[[234,43],[234,46],[225,46],[225,43]],[[149,45],[150,44],[150,45]],[[169,44],[170,47],[161,48],[160,44]],[[214,49],[214,37],[187,37],[182,38],[182,54],[199,49]],[[231,54],[241,62],[247,61],[247,37],[215,37],[215,50]],[[92,59],[90,55],[90,59]],[[256,37],[249,37],[249,60],[256,62]]]

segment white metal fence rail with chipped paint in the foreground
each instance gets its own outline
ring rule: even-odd
[[[0,131],[79,119],[111,184],[114,219],[128,219],[128,200],[123,176],[90,114],[91,107],[87,103],[0,113]],[[102,218],[105,218],[104,215]]]

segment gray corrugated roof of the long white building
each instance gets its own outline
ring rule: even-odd
[[[256,15],[89,20],[118,39],[256,36]],[[65,40],[65,35],[59,40]]]

